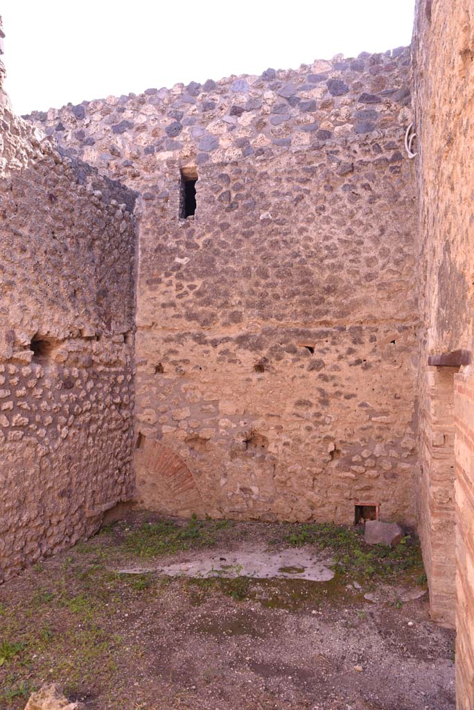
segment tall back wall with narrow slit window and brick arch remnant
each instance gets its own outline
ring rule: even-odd
[[[142,196],[143,506],[414,522],[408,75],[399,49],[32,114]]]

